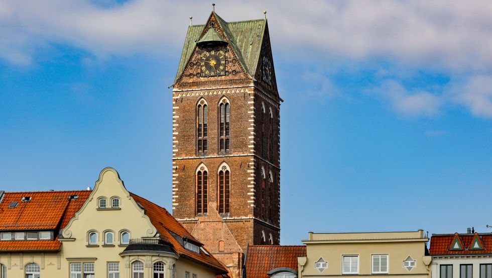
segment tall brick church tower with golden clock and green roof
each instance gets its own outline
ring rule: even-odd
[[[280,244],[280,103],[267,20],[188,28],[173,84],[173,216],[239,277]]]

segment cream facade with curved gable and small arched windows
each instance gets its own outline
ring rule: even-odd
[[[106,199],[106,208],[101,208],[99,200]],[[112,207],[112,199],[119,200]],[[90,242],[90,234],[96,233],[97,240]],[[107,242],[105,233],[112,233],[112,243]],[[162,250],[134,250],[124,252],[128,242],[121,242],[121,233],[129,233],[130,239],[143,242],[157,241],[160,234],[154,227],[144,209],[135,202],[126,190],[116,170],[105,168],[101,171],[82,208],[75,214],[69,224],[60,231],[61,251],[56,253],[0,253],[0,263],[5,265],[6,276],[1,278],[21,277],[135,277],[133,265],[142,262],[143,277],[154,277],[154,264],[164,265],[164,277],[216,278],[216,270],[206,264],[180,257],[175,252]],[[27,276],[26,266],[36,263],[40,276]],[[118,274],[109,273],[111,267],[118,265]],[[72,269],[71,269],[72,264]],[[80,271],[78,267],[80,266]],[[84,271],[86,266],[89,271]],[[90,271],[93,266],[93,271]],[[75,270],[75,271],[73,271]],[[0,267],[2,271],[2,267]],[[91,275],[93,273],[93,275]],[[0,274],[4,274],[1,273]],[[141,277],[138,276],[137,277]],[[162,277],[162,276],[159,276]]]

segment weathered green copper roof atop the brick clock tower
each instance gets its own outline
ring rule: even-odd
[[[236,53],[239,62],[251,76],[255,76],[267,21],[259,19],[226,22],[214,12],[212,13],[217,18],[220,27],[224,30],[224,34],[229,40],[230,46]],[[188,33],[186,34],[183,45],[183,52],[181,53],[181,59],[179,61],[178,72],[176,73],[174,81],[175,83],[183,73],[188,60],[196,47],[196,42],[204,28],[205,25],[193,25],[188,28]],[[209,32],[207,32],[200,41],[207,37],[208,33]],[[214,31],[214,33],[217,32]]]

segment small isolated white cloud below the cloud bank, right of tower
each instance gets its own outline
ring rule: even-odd
[[[387,80],[379,88],[369,91],[383,96],[395,111],[405,116],[434,116],[443,104],[440,97],[427,91],[407,90],[395,80]]]

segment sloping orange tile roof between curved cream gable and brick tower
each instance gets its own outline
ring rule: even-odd
[[[161,238],[171,243],[178,254],[185,256],[188,259],[205,264],[214,268],[218,274],[226,273],[224,265],[220,263],[215,257],[205,254],[200,250],[200,254],[188,250],[174,238],[171,233],[175,233],[180,237],[188,238],[192,241],[199,242],[194,238],[179,222],[165,209],[162,208],[138,195],[130,193],[135,202],[139,203],[145,208],[145,214],[150,218],[152,224],[157,228]],[[205,249],[206,250],[206,249]],[[208,251],[207,251],[208,252]],[[209,253],[209,252],[208,252]]]

